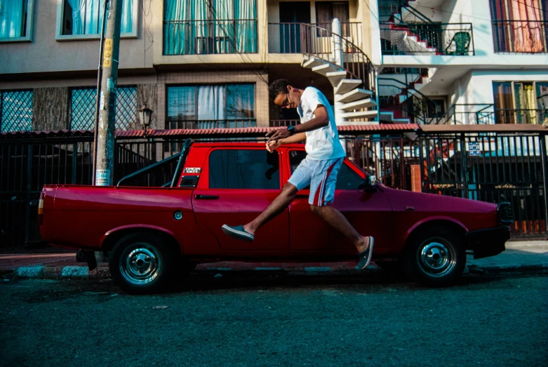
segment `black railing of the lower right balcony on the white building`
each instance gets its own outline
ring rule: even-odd
[[[453,105],[439,124],[542,124],[548,111],[542,109],[495,109],[494,105]]]

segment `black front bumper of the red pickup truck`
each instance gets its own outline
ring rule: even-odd
[[[504,243],[510,238],[510,227],[500,226],[467,232],[467,248],[474,252],[474,259],[495,256],[506,250]]]

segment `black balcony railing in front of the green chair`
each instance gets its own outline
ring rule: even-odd
[[[383,55],[474,55],[472,23],[380,22]]]

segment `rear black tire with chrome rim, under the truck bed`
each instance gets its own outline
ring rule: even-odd
[[[128,234],[114,246],[109,261],[110,275],[114,283],[128,293],[164,291],[173,276],[177,256],[159,236]]]

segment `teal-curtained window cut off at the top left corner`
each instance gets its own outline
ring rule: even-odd
[[[27,36],[27,0],[0,0],[0,39]]]

